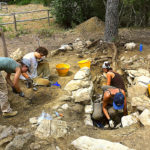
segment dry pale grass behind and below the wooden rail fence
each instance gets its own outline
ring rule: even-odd
[[[41,9],[49,9],[48,7],[44,7],[41,4],[29,4],[23,6],[17,5],[8,5],[8,14],[13,12],[25,12],[25,11],[32,11],[32,10],[41,10]],[[6,13],[5,10],[1,11],[1,13]],[[41,17],[47,17],[47,11],[44,12],[35,12],[35,13],[28,13],[28,14],[18,14],[16,15],[17,20],[26,20],[26,19],[37,19]],[[13,22],[13,16],[4,16],[2,17],[2,21],[4,23]],[[6,25],[5,29],[8,34],[15,33],[14,25]],[[50,26],[48,25],[48,20],[38,20],[38,21],[28,21],[28,22],[21,22],[17,23],[17,30],[20,34],[27,34],[27,33],[38,33],[44,31],[49,32],[63,32],[64,29],[59,27],[55,24],[54,19],[50,18]]]

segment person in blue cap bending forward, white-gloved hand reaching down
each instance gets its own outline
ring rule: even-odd
[[[107,89],[104,92],[101,109],[101,117],[105,116],[109,121],[109,126],[114,128],[114,121],[111,119],[109,109],[123,109],[124,115],[127,115],[127,102],[125,92],[122,89]]]

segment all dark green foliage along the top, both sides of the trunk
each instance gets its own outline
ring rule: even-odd
[[[64,27],[97,16],[105,21],[107,0],[10,0],[9,3],[25,5],[41,3],[50,6],[56,22]],[[150,26],[150,0],[121,0],[119,6],[120,26]]]

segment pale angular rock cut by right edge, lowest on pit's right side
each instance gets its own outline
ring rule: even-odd
[[[140,122],[144,126],[150,125],[150,110],[145,109],[139,116]]]

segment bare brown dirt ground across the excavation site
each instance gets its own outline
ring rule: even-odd
[[[41,9],[41,5],[27,5],[27,6],[10,6],[10,9]],[[34,23],[34,27],[38,26],[39,22]],[[40,24],[43,22],[41,21]],[[91,24],[91,25],[90,25]],[[33,24],[29,23],[30,30],[32,30]],[[40,29],[40,26],[38,26]],[[42,27],[43,28],[43,27]],[[48,28],[48,27],[47,27]],[[49,27],[51,28],[51,26]],[[61,44],[67,44],[74,42],[76,38],[81,40],[88,39],[103,39],[104,25],[103,23],[97,23],[97,21],[91,21],[86,24],[78,26],[76,29],[69,30],[66,32],[56,32],[53,33],[50,37],[41,37],[40,45],[46,47],[49,50],[49,53],[60,47]],[[6,43],[9,51],[9,55],[15,51],[17,48],[21,48],[23,51],[31,52],[38,47],[36,37],[38,36],[35,32],[28,33],[26,35],[20,35],[18,37],[9,37],[9,33],[5,33]],[[125,53],[123,46],[118,46],[119,56],[126,55],[128,57],[136,55],[146,56],[150,51],[150,30],[149,29],[120,29],[119,35],[121,41],[131,42],[134,41],[137,44],[142,43],[144,45],[143,52],[139,52],[138,48],[134,51],[128,51]],[[2,45],[0,46],[0,56],[3,56]],[[48,56],[48,61],[51,71],[51,80],[58,81],[61,84],[61,89],[57,87],[38,87],[38,91],[33,91],[32,89],[26,89],[23,82],[20,82],[22,90],[24,91],[26,97],[32,99],[29,102],[28,98],[21,98],[18,95],[12,93],[11,88],[8,86],[9,90],[9,101],[11,107],[17,110],[19,113],[16,117],[13,118],[3,118],[0,116],[1,125],[14,125],[15,127],[27,127],[31,128],[29,124],[29,118],[39,116],[42,110],[45,110],[48,113],[54,113],[52,111],[53,106],[60,105],[61,101],[58,101],[58,98],[64,93],[63,88],[65,85],[73,79],[75,73],[79,70],[78,61],[86,58],[94,58],[97,55],[104,55],[102,51],[99,50],[97,53],[84,54],[84,58],[79,58],[76,54],[80,54],[80,50],[73,50],[67,52],[61,52],[56,56]],[[113,51],[109,51],[110,55],[113,54]],[[68,63],[70,64],[69,74],[65,77],[59,77],[56,72],[56,64],[58,63]],[[101,64],[96,66],[91,66],[92,77],[101,73]],[[97,90],[99,91],[99,90]],[[150,127],[143,127],[141,125],[130,126],[127,128],[116,129],[116,130],[102,130],[97,127],[85,126],[83,122],[84,110],[79,112],[78,107],[69,103],[70,109],[63,112],[64,117],[62,120],[67,121],[69,126],[69,133],[62,138],[57,140],[52,140],[47,143],[42,150],[48,150],[53,142],[54,145],[58,145],[62,150],[74,150],[70,143],[76,138],[87,135],[93,138],[102,138],[110,141],[120,142],[130,148],[135,148],[137,150],[149,150],[149,137],[150,137]],[[1,113],[0,113],[1,115]],[[74,130],[76,129],[76,130]],[[32,129],[31,129],[32,130]]]

